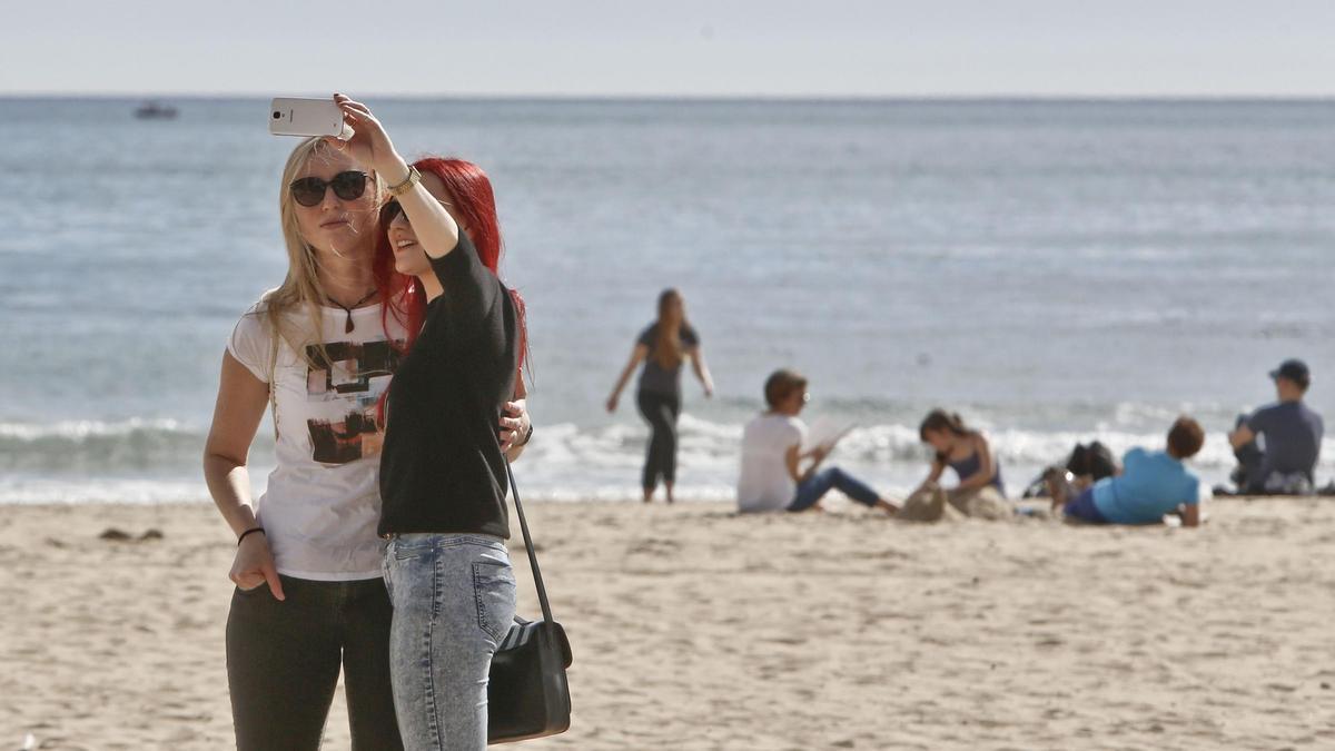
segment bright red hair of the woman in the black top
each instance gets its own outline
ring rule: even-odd
[[[469,226],[469,239],[478,251],[478,259],[493,274],[499,277],[502,242],[501,223],[497,220],[495,194],[491,190],[491,180],[473,162],[463,159],[446,159],[441,156],[426,156],[413,163],[419,172],[431,174],[445,183],[445,190],[450,195],[454,214]],[[418,334],[422,331],[422,322],[426,318],[426,290],[417,277],[399,274],[394,269],[394,250],[390,247],[388,227],[382,224],[375,245],[375,283],[380,290],[383,303],[380,315],[384,323],[392,315],[407,330],[409,339],[403,351],[413,347]],[[461,229],[462,231],[462,229]],[[523,388],[523,359],[529,350],[529,326],[525,315],[523,297],[518,291],[510,290],[514,299],[515,314],[519,321],[519,388]],[[386,326],[386,330],[388,326]]]

